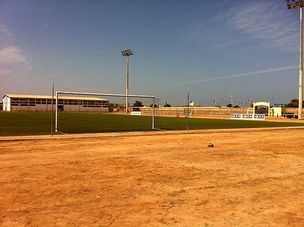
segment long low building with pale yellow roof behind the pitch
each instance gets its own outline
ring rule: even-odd
[[[3,111],[12,112],[50,112],[56,106],[52,96],[5,95]],[[109,101],[92,97],[60,97],[58,111],[64,112],[108,112]],[[55,109],[54,109],[55,110]]]

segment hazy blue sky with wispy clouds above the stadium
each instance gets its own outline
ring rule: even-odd
[[[160,105],[298,99],[299,10],[267,1],[0,0],[0,96],[155,96]],[[273,98],[272,98],[273,97]]]

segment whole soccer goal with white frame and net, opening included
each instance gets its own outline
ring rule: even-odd
[[[156,129],[154,96],[56,92],[55,130],[61,133]]]

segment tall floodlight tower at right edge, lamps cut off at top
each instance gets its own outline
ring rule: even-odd
[[[302,40],[302,7],[304,6],[303,0],[286,0],[287,8],[289,10],[294,10],[300,8],[300,60],[299,60],[299,109],[298,118],[303,119],[302,108],[303,108],[303,40]]]

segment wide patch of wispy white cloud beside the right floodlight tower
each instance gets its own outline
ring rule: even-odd
[[[239,1],[235,4],[215,11],[208,20],[204,18],[180,28],[181,39],[209,53],[234,52],[240,50],[240,46],[298,51],[298,21],[292,19],[284,2]]]

